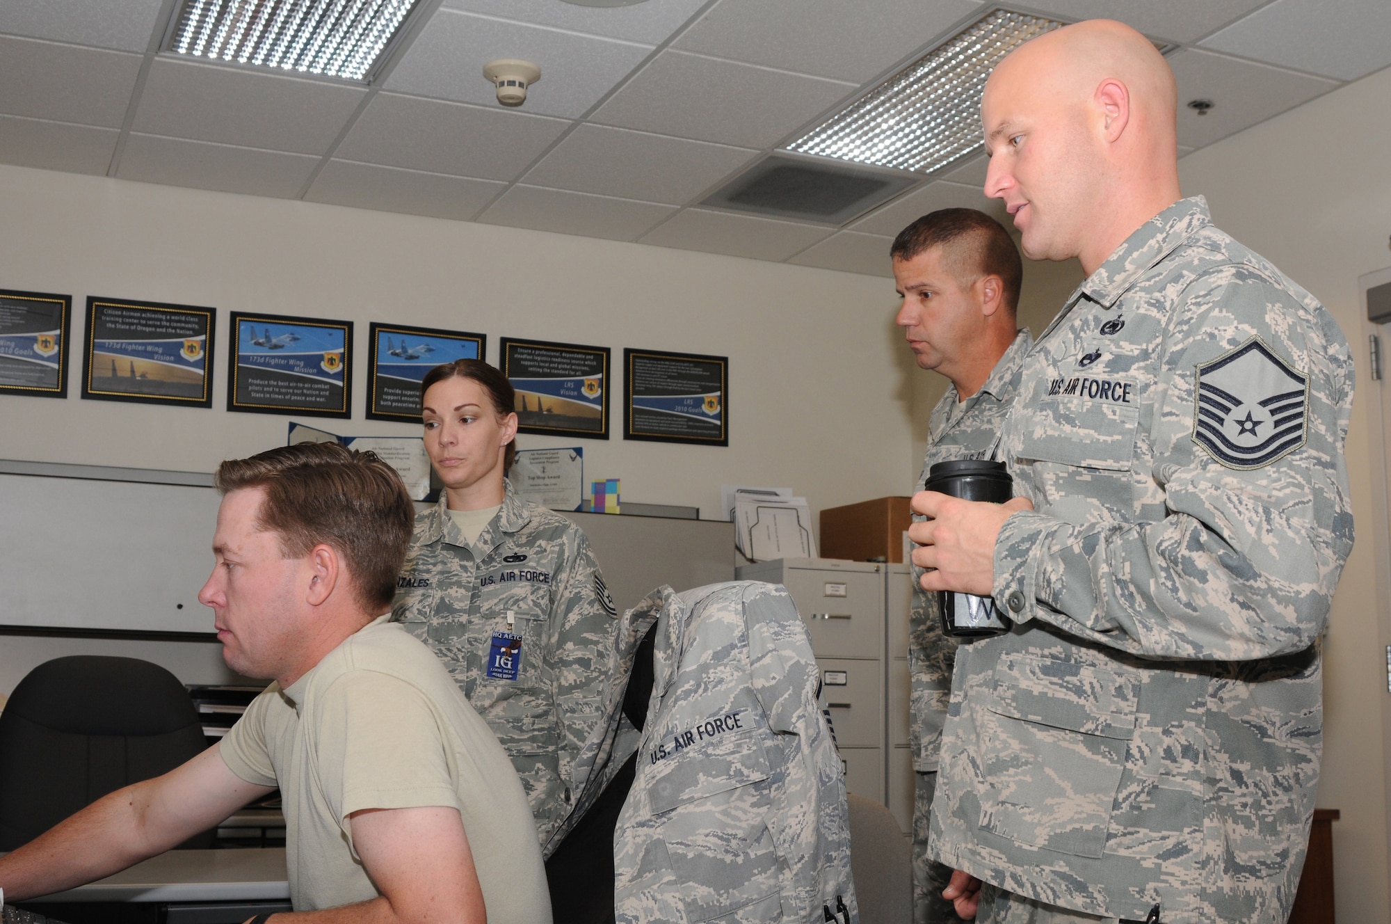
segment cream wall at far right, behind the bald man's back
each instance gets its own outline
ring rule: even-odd
[[[1391,70],[1185,157],[1184,193],[1203,193],[1219,227],[1273,260],[1337,317],[1358,360],[1348,436],[1358,540],[1334,600],[1324,658],[1319,806],[1333,825],[1338,918],[1391,920],[1381,710],[1385,651],[1376,594],[1370,390],[1358,277],[1391,266]]]

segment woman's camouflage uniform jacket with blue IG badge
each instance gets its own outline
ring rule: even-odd
[[[588,540],[506,483],[470,544],[445,498],[416,518],[392,618],[444,661],[522,776],[547,843],[600,717],[616,612]]]

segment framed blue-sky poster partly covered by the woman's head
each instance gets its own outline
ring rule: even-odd
[[[420,381],[455,359],[483,359],[488,338],[430,327],[373,321],[367,363],[367,417],[420,423]]]

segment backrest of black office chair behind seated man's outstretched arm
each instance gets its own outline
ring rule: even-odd
[[[33,668],[0,712],[0,850],[207,746],[193,700],[149,661],[97,655]],[[181,847],[211,847],[206,831]]]

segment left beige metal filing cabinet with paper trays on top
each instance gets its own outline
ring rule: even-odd
[[[811,648],[846,763],[846,789],[885,803],[886,565],[837,558],[780,558],[741,565],[741,580],[782,584],[807,623]]]

